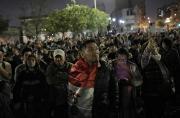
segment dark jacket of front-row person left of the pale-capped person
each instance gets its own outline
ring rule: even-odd
[[[46,100],[48,86],[44,74],[39,70],[23,70],[13,89],[14,102],[43,102]]]

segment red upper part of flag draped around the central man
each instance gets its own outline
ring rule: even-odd
[[[93,88],[97,72],[97,64],[89,67],[84,59],[79,59],[72,65],[68,80],[77,87]]]

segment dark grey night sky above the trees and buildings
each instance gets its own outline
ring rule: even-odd
[[[31,0],[0,0],[0,15],[10,19],[10,25],[19,25],[18,17],[25,12],[21,10],[22,6],[27,6]],[[36,0],[38,1],[38,0]],[[63,8],[70,0],[49,0],[46,10]],[[93,0],[76,0],[78,3],[87,4],[93,7]],[[126,0],[124,0],[126,1]],[[146,13],[151,19],[156,18],[157,8],[174,2],[175,0],[146,0]],[[108,13],[111,13],[115,7],[115,0],[97,0],[97,4],[104,5],[104,8]],[[28,8],[27,8],[28,9]],[[28,10],[26,11],[28,14]]]

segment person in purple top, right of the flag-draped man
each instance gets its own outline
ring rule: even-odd
[[[117,52],[117,60],[113,63],[114,77],[119,85],[120,117],[135,117],[134,100],[136,87],[142,85],[142,76],[136,64],[128,61],[129,52],[120,48]],[[136,91],[138,93],[138,91]]]

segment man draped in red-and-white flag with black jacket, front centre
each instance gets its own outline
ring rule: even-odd
[[[110,71],[99,60],[99,49],[94,40],[83,44],[82,58],[71,68],[68,85],[70,118],[110,118],[115,82]],[[114,82],[114,83],[113,83]],[[111,102],[110,102],[111,101]]]

